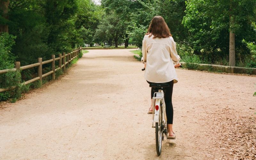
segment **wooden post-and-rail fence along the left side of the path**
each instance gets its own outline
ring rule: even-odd
[[[30,84],[30,83],[35,82],[37,80],[39,80],[40,85],[42,85],[42,82],[43,82],[42,80],[46,76],[52,75],[52,80],[55,80],[55,71],[62,68],[62,70],[64,72],[66,70],[66,67],[68,67],[69,64],[71,63],[71,61],[74,60],[76,57],[78,57],[78,54],[80,52],[82,52],[82,47],[74,49],[73,52],[68,53],[68,54],[66,54],[66,53],[59,54],[58,58],[55,58],[55,55],[52,55],[52,59],[50,59],[50,60],[42,61],[42,58],[38,58],[38,63],[30,64],[30,65],[22,66],[22,67],[20,67],[20,62],[15,62],[14,63],[15,64],[14,68],[0,70],[0,75],[4,74],[4,73],[7,73],[7,72],[10,72],[10,71],[16,71],[16,70],[21,71],[21,70],[25,70],[25,69],[29,69],[29,68],[33,68],[33,67],[38,67],[38,69],[37,69],[38,76],[36,78],[33,78],[31,80],[28,80],[28,81],[24,82],[23,85]],[[55,68],[55,61],[56,60],[59,61],[58,68]],[[43,71],[42,71],[43,67],[42,66],[44,64],[47,64],[47,63],[52,63],[52,70],[48,73],[43,74]],[[15,88],[16,88],[15,86],[10,87],[10,88],[0,88],[0,92],[10,91],[10,90],[13,90]]]

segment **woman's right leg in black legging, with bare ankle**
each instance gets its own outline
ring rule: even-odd
[[[169,136],[173,136],[174,132],[172,130],[172,123],[173,123],[173,107],[172,107],[172,91],[173,91],[173,81],[168,82],[170,87],[166,88],[164,93],[164,102],[166,108],[166,116],[167,116],[167,125],[168,125],[168,132]]]

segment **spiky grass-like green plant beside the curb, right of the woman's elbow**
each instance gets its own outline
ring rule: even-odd
[[[185,68],[188,69],[198,69],[199,64],[201,63],[200,58],[197,55],[192,55],[192,56],[185,56],[183,58],[183,61],[185,62]]]

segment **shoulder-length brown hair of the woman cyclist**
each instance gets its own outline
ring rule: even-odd
[[[151,20],[148,27],[148,33],[146,35],[149,35],[149,37],[154,35],[153,38],[167,38],[172,36],[164,18],[161,16],[155,16]]]

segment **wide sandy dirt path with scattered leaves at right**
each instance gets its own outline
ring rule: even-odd
[[[0,159],[256,158],[256,77],[177,69],[176,140],[156,156],[150,88],[129,50],[90,50],[0,110]]]

